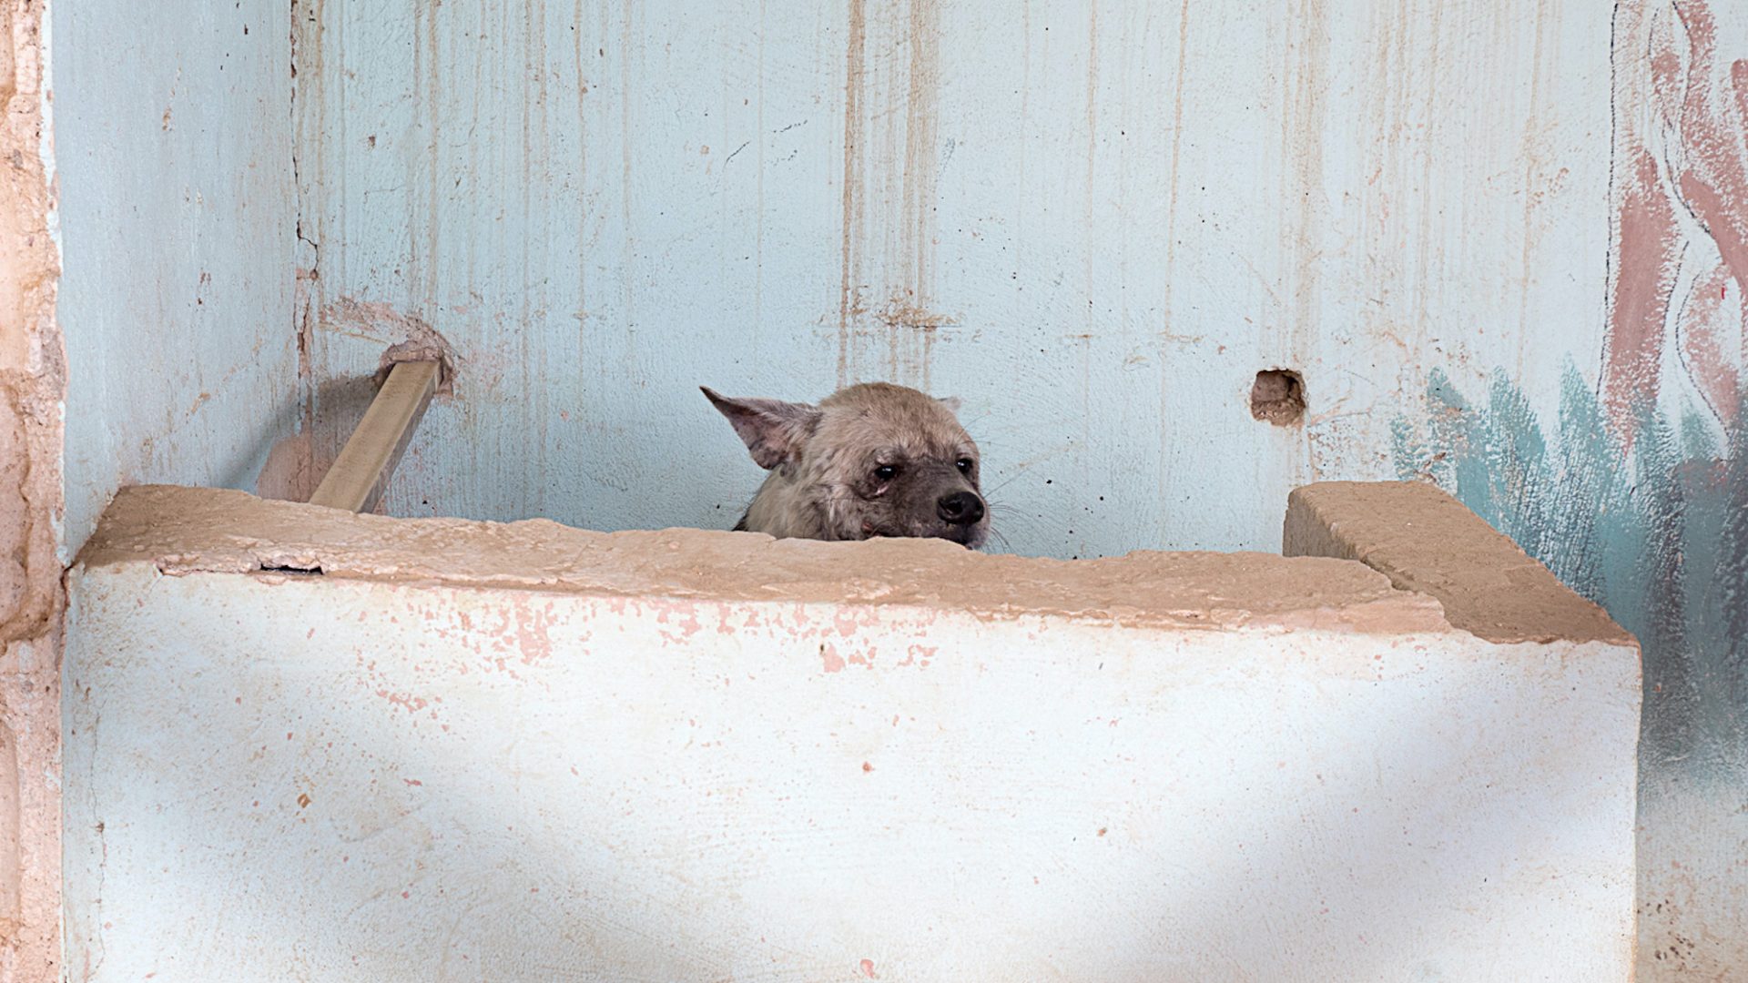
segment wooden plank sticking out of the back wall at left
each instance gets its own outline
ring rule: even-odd
[[[309,497],[311,505],[351,512],[376,509],[388,476],[437,392],[439,371],[439,362],[397,362],[388,371],[388,380],[364,411],[358,429]]]

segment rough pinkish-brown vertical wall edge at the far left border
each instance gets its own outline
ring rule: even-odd
[[[0,0],[0,980],[59,973],[61,399],[44,5]]]

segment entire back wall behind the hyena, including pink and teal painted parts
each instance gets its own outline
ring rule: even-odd
[[[1026,554],[1437,481],[1645,640],[1641,971],[1748,976],[1748,7],[299,14],[311,471],[437,332],[397,514],[725,528],[697,383],[963,397]]]

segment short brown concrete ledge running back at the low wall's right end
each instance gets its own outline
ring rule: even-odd
[[[1488,642],[1605,642],[1638,649],[1608,612],[1442,488],[1323,481],[1287,497],[1283,556],[1358,560]]]

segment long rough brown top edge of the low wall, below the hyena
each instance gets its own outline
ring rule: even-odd
[[[675,600],[956,609],[1169,630],[1447,633],[1439,602],[1360,563],[1262,553],[1047,560],[940,540],[815,542],[713,530],[591,532],[545,519],[358,516],[243,492],[124,488],[77,568],[320,575]]]

